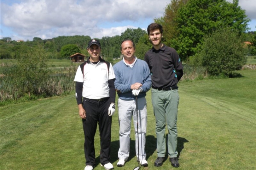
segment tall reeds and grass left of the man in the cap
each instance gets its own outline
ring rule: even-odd
[[[57,70],[48,70],[48,78],[45,82],[35,87],[35,91],[25,92],[24,89],[15,84],[12,74],[15,73],[15,66],[2,65],[0,76],[0,101],[4,104],[7,101],[26,101],[41,97],[58,96],[68,94],[75,90],[75,72],[77,66],[63,67]],[[33,74],[33,73],[32,73]]]

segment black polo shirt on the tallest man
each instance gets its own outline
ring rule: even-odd
[[[177,51],[163,44],[159,50],[154,48],[146,52],[144,60],[149,65],[152,87],[176,87],[178,84],[177,71],[183,66]],[[183,71],[182,71],[183,73]]]

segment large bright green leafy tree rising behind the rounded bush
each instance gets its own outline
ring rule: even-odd
[[[231,27],[243,34],[248,30],[245,10],[226,0],[191,0],[181,6],[174,18],[177,35],[170,40],[182,61],[193,56],[202,47],[204,37],[220,28]]]

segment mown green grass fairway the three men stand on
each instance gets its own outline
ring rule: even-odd
[[[179,83],[179,170],[256,169],[256,72],[243,77]],[[153,165],[156,154],[155,117],[147,93],[148,127],[145,170],[173,168],[166,160]],[[10,104],[0,108],[1,170],[83,170],[82,123],[75,95]],[[130,158],[123,168],[118,157],[118,114],[112,119],[111,162],[116,170],[138,166],[132,127]],[[99,133],[95,135],[95,170],[99,164]]]

